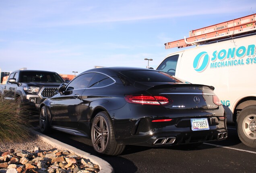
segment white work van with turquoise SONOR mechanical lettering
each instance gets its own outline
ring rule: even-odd
[[[157,66],[194,84],[215,87],[240,140],[256,147],[256,23],[250,33],[171,53]],[[241,36],[242,35],[242,36]],[[185,38],[186,39],[186,38]]]

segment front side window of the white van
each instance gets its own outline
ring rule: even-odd
[[[167,73],[175,76],[178,58],[179,58],[178,54],[166,58],[158,66],[157,70],[167,72]]]

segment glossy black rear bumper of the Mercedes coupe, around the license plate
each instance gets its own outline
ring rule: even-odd
[[[115,118],[117,115],[118,113],[115,112]],[[130,107],[126,113],[123,112],[122,118],[112,119],[116,141],[120,145],[157,147],[219,141],[227,138],[227,119],[223,107],[211,110],[170,110],[163,107],[135,110]],[[209,130],[192,131],[192,118],[207,118]],[[155,119],[172,119],[172,121],[152,122]]]

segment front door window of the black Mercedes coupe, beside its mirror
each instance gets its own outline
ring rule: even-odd
[[[86,88],[94,75],[95,73],[85,73],[77,76],[68,84],[67,91]]]

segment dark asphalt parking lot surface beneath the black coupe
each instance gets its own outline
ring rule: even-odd
[[[104,159],[115,173],[252,173],[256,172],[256,148],[241,143],[234,127],[224,141],[204,143],[197,149],[126,146],[120,156],[98,155],[91,140],[54,131],[50,137]]]

